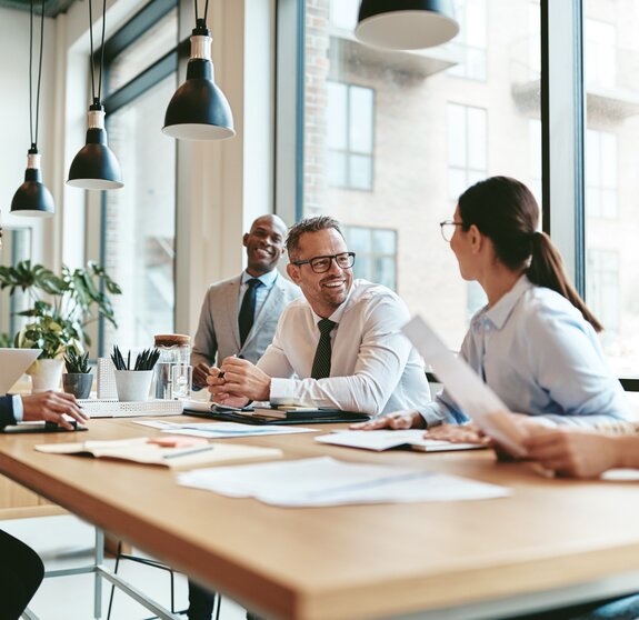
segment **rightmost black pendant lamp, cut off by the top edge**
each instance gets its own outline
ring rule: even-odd
[[[419,50],[459,32],[452,0],[362,0],[355,36],[367,46]]]

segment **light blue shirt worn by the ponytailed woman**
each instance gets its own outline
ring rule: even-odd
[[[475,314],[460,354],[512,412],[577,426],[630,419],[590,323],[526,276]],[[428,426],[468,421],[446,391],[421,413]]]

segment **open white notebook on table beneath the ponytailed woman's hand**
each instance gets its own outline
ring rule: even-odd
[[[372,430],[372,431],[335,431],[330,434],[316,437],[319,443],[343,446],[346,448],[362,448],[365,450],[390,450],[408,446],[419,452],[442,452],[446,450],[478,450],[486,448],[477,443],[451,443],[439,439],[426,439],[423,430]]]

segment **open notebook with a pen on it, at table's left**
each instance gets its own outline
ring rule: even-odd
[[[76,441],[72,443],[43,443],[36,446],[38,452],[50,454],[90,454],[96,458],[118,459],[142,464],[154,464],[171,469],[201,467],[204,464],[234,460],[258,460],[281,457],[281,450],[207,443],[189,448],[164,448],[148,443],[147,437],[118,439],[113,441]]]

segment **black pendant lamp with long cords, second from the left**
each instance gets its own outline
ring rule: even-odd
[[[89,37],[91,40],[91,94],[93,102],[89,106],[89,128],[87,143],[78,151],[69,169],[67,184],[91,190],[110,190],[123,187],[120,163],[107,143],[104,129],[104,107],[102,96],[102,68],[104,67],[104,29],[107,23],[107,0],[102,0],[102,43],[100,46],[100,77],[96,97],[93,71],[93,13],[92,0],[89,0]]]

